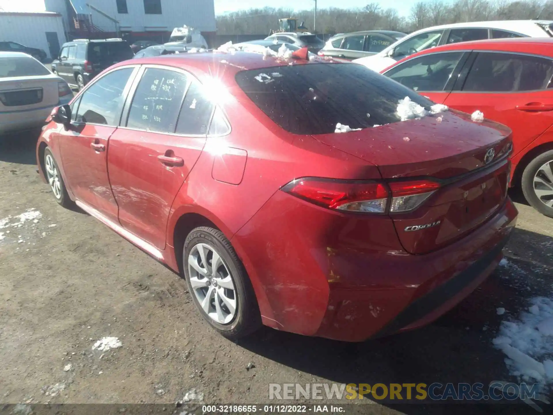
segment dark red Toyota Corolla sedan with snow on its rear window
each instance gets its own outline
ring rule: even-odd
[[[509,129],[441,109],[351,63],[135,59],[55,110],[36,157],[221,334],[359,341],[453,307],[515,225]]]

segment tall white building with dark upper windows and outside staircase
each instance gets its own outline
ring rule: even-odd
[[[171,32],[187,25],[215,32],[213,0],[45,0],[47,11],[64,16],[67,32]]]

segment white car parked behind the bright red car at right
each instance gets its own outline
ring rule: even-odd
[[[551,20],[498,20],[444,24],[417,30],[380,53],[356,59],[354,62],[380,72],[405,56],[438,45],[482,39],[550,38],[552,36],[553,21]]]

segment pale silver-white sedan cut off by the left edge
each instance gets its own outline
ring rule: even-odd
[[[72,97],[67,82],[32,56],[0,52],[0,134],[43,126]]]

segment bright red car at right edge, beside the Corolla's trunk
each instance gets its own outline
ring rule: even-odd
[[[382,73],[432,101],[481,111],[513,131],[511,186],[553,217],[553,39],[497,39],[427,49]]]

